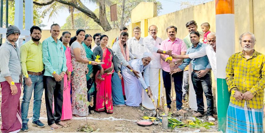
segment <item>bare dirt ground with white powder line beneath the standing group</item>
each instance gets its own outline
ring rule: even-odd
[[[22,90],[23,92],[23,90]],[[21,100],[22,101],[21,94]],[[86,118],[73,117],[69,121],[64,121],[67,123],[67,127],[61,127],[59,129],[52,130],[51,127],[47,124],[47,114],[45,107],[44,92],[42,98],[42,106],[40,112],[40,120],[46,125],[46,127],[38,128],[32,126],[32,119],[28,122],[29,131],[28,132],[78,132],[79,128],[86,124]],[[0,98],[0,100],[2,97]],[[163,102],[163,101],[162,101]],[[173,107],[169,112],[172,112],[173,117],[183,116],[183,114],[178,114],[176,111],[176,102],[173,102]],[[162,104],[163,105],[163,104]],[[189,109],[188,102],[183,104],[184,109],[187,111],[185,114],[185,119],[188,116],[192,116],[194,113],[193,110]],[[31,98],[28,118],[32,117],[32,108],[33,108],[33,97]],[[117,107],[113,106],[113,114],[106,114],[105,112],[94,112],[88,115],[88,125],[93,127],[94,130],[99,129],[99,132],[199,132],[199,129],[193,129],[188,127],[175,128],[173,130],[163,129],[161,123],[157,126],[147,126],[142,127],[138,126],[135,121],[141,120],[142,116],[150,115],[153,111],[149,111],[141,106],[139,108],[133,108],[129,106]],[[164,112],[164,109],[160,107],[160,112]],[[1,117],[0,117],[1,118]],[[109,118],[109,119],[104,119]],[[207,121],[207,117],[199,117]],[[114,119],[126,119],[126,120],[114,120]],[[216,132],[217,131],[217,119],[214,122],[215,126],[211,129],[206,129],[207,132]],[[0,125],[2,125],[2,119],[0,119]]]

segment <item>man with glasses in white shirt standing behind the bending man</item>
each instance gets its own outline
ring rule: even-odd
[[[141,37],[141,28],[134,27],[133,35],[134,37],[128,39],[127,41],[129,51],[132,53],[134,57],[140,59],[143,56],[143,53],[146,52],[147,50],[147,48],[144,45],[144,38]]]

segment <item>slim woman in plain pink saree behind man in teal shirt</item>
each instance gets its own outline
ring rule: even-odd
[[[63,32],[60,41],[63,42],[63,49],[65,51],[66,56],[66,66],[68,70],[64,75],[64,84],[63,84],[63,109],[62,109],[62,117],[61,120],[72,119],[72,106],[71,106],[71,72],[73,71],[73,66],[71,63],[71,53],[68,47],[68,43],[71,39],[71,33],[68,31]]]

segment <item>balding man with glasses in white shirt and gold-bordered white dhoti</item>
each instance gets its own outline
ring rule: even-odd
[[[148,31],[149,36],[144,38],[144,45],[149,50],[149,53],[153,54],[153,60],[150,62],[149,70],[150,88],[157,107],[159,107],[159,105],[162,104],[161,96],[163,89],[161,54],[171,55],[172,50],[163,51],[159,49],[163,40],[160,37],[157,37],[156,25],[151,25]],[[155,109],[152,100],[146,93],[142,93],[142,106],[149,110]]]

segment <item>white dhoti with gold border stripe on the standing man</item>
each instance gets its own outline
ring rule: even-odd
[[[162,89],[163,89],[163,79],[162,79],[162,69],[161,68],[150,68],[149,69],[150,78],[150,88],[153,93],[153,99],[156,102],[157,107],[162,104]],[[145,90],[142,90],[142,106],[153,110],[155,109],[152,100],[149,98]],[[157,103],[158,100],[158,103]]]

